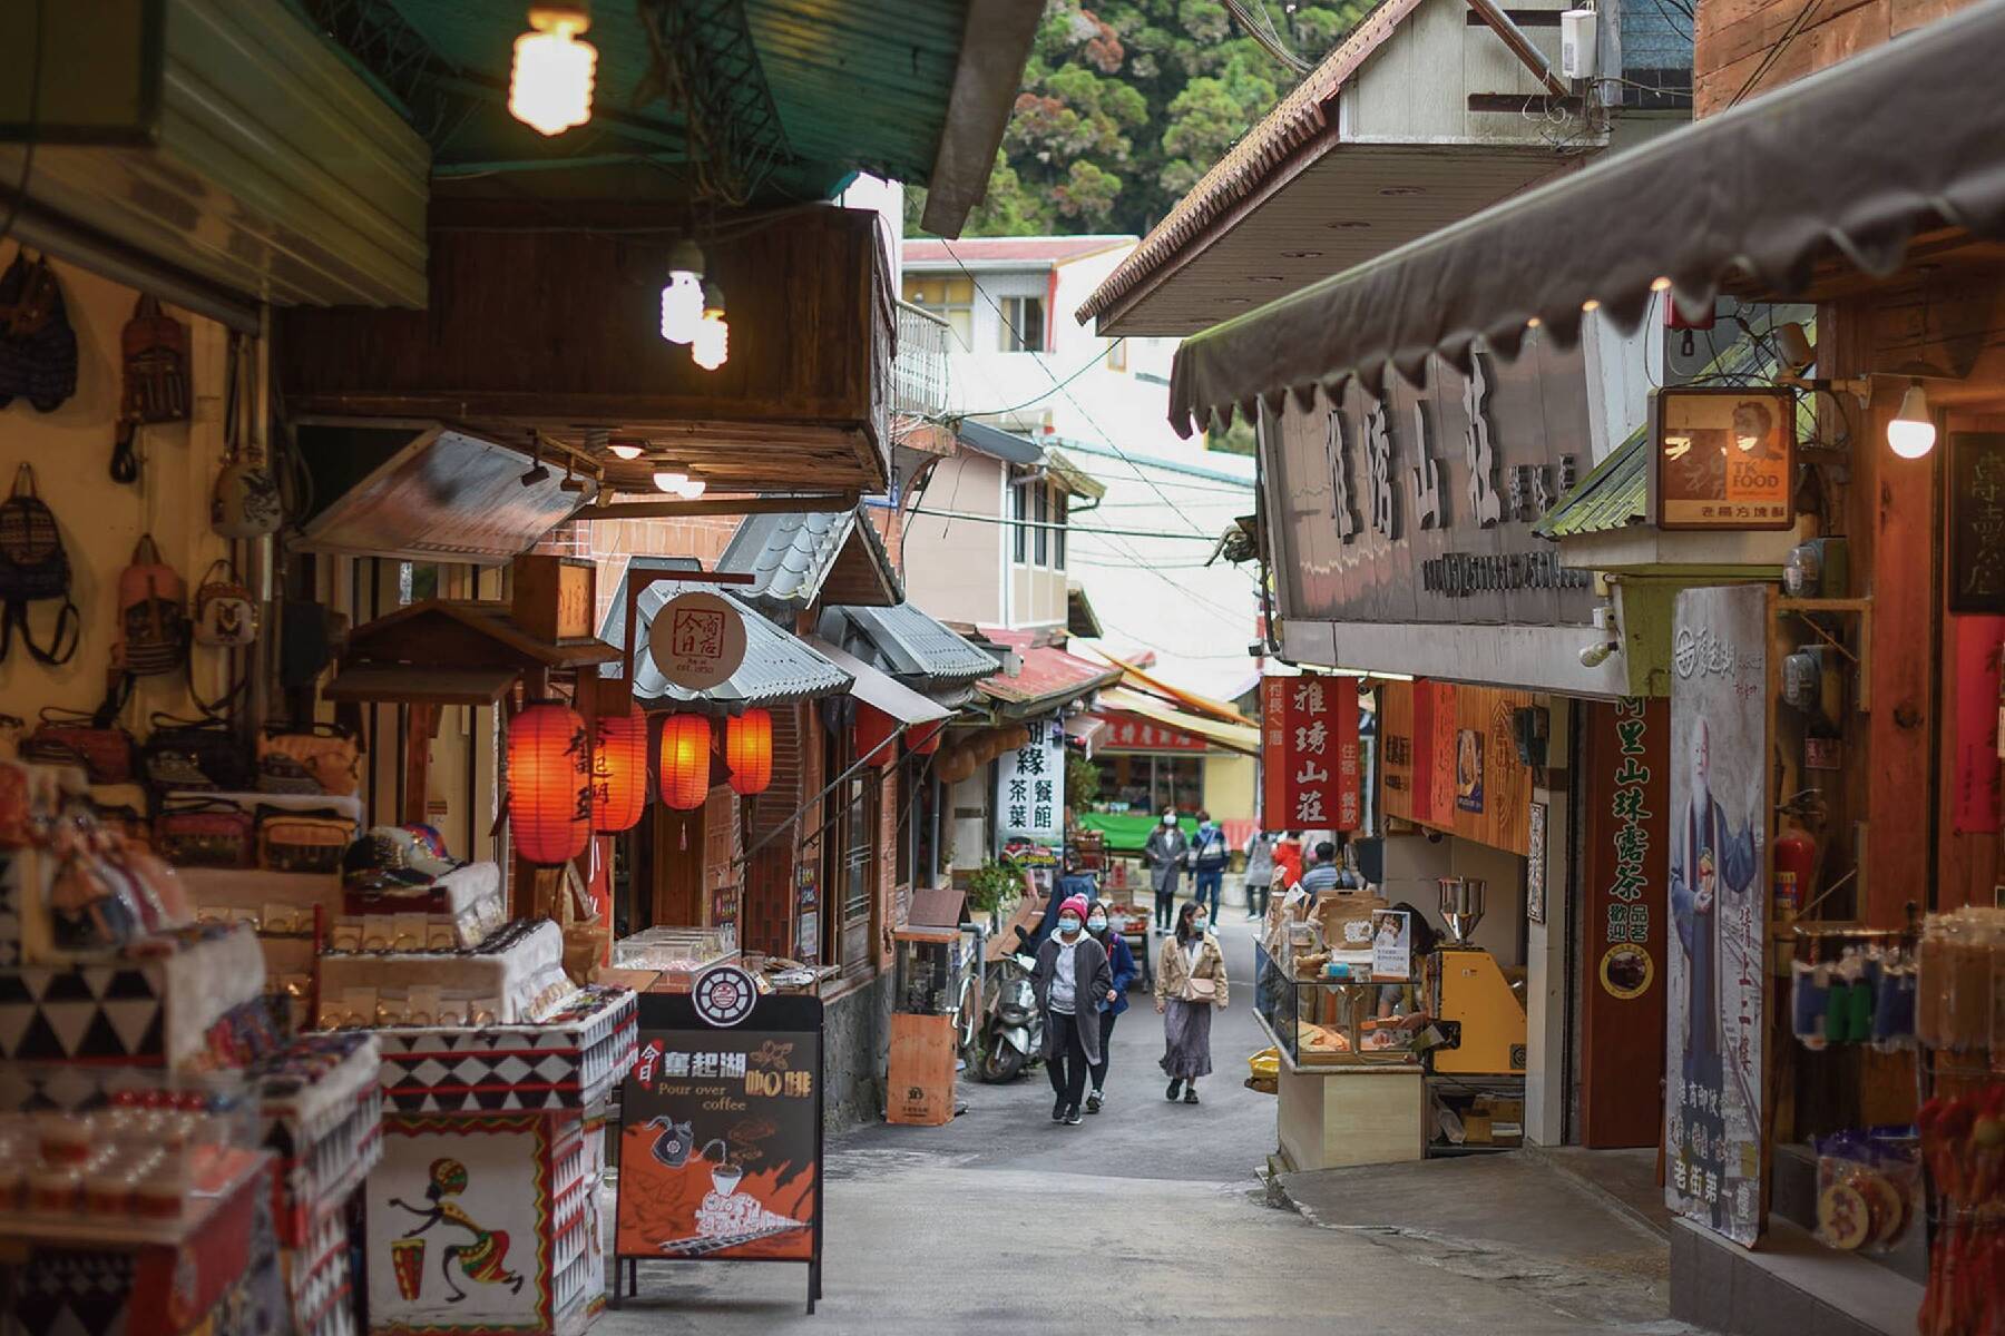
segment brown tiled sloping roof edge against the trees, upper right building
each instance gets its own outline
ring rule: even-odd
[[[1343,84],[1363,68],[1363,62],[1389,38],[1406,16],[1420,8],[1420,0],[1379,0],[1377,8],[1365,14],[1349,36],[1337,44],[1323,62],[1295,84],[1295,90],[1281,98],[1281,104],[1267,112],[1259,124],[1245,132],[1223,158],[1219,158],[1203,178],[1191,186],[1189,194],[1177,200],[1161,222],[1149,228],[1135,252],[1121,260],[1115,272],[1093,290],[1077,310],[1079,322],[1101,314],[1149,274],[1163,268],[1179,250],[1213,218],[1221,216],[1239,200],[1253,194],[1261,182],[1291,152],[1315,138],[1335,116],[1325,112],[1327,104],[1343,92]]]

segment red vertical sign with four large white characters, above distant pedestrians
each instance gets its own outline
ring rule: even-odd
[[[1267,829],[1357,829],[1359,773],[1355,677],[1261,679]]]

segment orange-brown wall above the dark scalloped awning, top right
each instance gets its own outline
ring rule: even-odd
[[[1712,116],[1885,46],[1971,0],[1706,0],[1692,34],[1692,114]]]

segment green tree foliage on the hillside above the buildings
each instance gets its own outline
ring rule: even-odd
[[[1319,60],[1371,2],[1265,0],[1265,14]],[[1221,0],[1049,0],[966,232],[1147,232],[1293,84]],[[924,196],[908,200],[916,226]]]

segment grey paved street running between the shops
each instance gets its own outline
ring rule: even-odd
[[[1253,935],[1239,911],[1225,919],[1233,1001],[1203,1104],[1163,1100],[1161,1022],[1137,991],[1115,1032],[1109,1108],[1079,1128],[1051,1122],[1035,1072],[964,1086],[968,1112],[946,1128],[830,1144],[818,1316],[802,1316],[802,1268],[648,1264],[640,1298],[597,1334],[1658,1330],[1568,1318],[1542,1294],[1267,1206],[1255,1172],[1273,1100],[1241,1084],[1259,1046]]]

